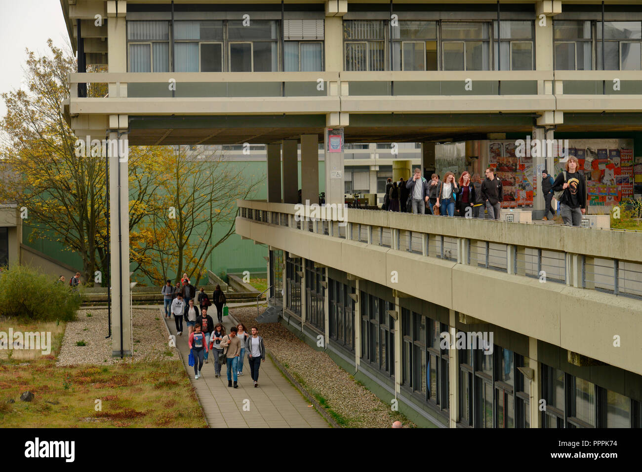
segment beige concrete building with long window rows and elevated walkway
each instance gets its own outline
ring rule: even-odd
[[[380,398],[425,426],[641,426],[640,233],[295,207],[298,189],[317,201],[320,176],[326,203],[342,205],[347,145],[360,142],[419,142],[424,174],[490,165],[512,183],[504,203],[537,217],[541,170],[560,164],[553,140],[577,140],[566,148],[591,174],[590,206],[632,196],[638,4],[61,3],[80,58],[62,105],[77,135],[266,144],[267,199],[238,202],[236,232],[270,248],[282,323],[315,346],[322,336]],[[108,72],[83,73],[88,63]],[[85,97],[87,83],[108,96]],[[519,139],[542,146],[519,156]],[[464,151],[440,155],[444,142]],[[126,242],[122,157],[110,205]],[[131,350],[117,240],[115,353]]]

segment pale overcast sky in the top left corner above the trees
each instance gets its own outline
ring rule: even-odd
[[[0,92],[9,92],[22,86],[25,47],[45,53],[48,38],[64,47],[69,35],[60,0],[0,0],[0,11]],[[0,115],[5,112],[0,99]]]

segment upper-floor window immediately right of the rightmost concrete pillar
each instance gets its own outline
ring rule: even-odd
[[[555,69],[590,71],[593,68],[590,21],[554,21]]]

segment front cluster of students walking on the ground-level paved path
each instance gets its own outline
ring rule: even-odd
[[[227,386],[238,389],[238,377],[243,375],[243,357],[247,353],[250,364],[250,375],[254,387],[259,386],[259,367],[265,361],[265,342],[259,336],[259,330],[252,326],[252,334],[248,335],[245,325],[239,323],[230,328],[230,333],[225,333],[223,323],[213,325],[212,319],[203,308],[193,330],[189,332],[187,341],[194,359],[194,378],[202,376],[203,364],[207,364],[209,352],[214,355],[214,378],[221,375],[221,365],[227,368]],[[232,384],[232,379],[234,384]]]

